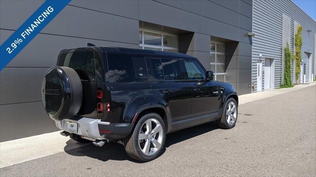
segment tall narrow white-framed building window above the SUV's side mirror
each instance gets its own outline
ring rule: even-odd
[[[215,81],[225,82],[225,44],[211,41],[210,59]]]

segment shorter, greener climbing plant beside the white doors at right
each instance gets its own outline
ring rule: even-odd
[[[284,48],[284,85],[281,86],[283,88],[293,87],[291,81],[291,61],[292,61],[292,54],[290,51],[290,47],[288,43],[286,43],[286,47]]]

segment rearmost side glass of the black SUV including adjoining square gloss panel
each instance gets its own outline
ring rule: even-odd
[[[145,59],[138,56],[108,54],[108,75],[111,83],[148,80]]]

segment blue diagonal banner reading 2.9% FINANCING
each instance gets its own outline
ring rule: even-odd
[[[46,0],[1,46],[0,71],[28,45],[28,43],[71,0]]]

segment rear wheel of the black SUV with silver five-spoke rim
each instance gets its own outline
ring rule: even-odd
[[[126,153],[135,160],[154,160],[162,152],[165,134],[163,119],[156,113],[146,114],[139,119],[133,132],[123,139]]]

